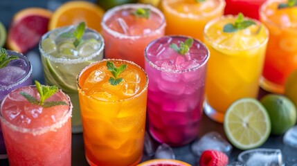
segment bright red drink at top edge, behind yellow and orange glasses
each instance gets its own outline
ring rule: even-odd
[[[259,19],[259,8],[266,0],[226,0],[224,15],[237,15],[242,12],[244,16]]]

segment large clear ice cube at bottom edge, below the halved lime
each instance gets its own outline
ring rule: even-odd
[[[237,160],[246,166],[282,166],[282,151],[280,149],[251,149],[243,151]]]

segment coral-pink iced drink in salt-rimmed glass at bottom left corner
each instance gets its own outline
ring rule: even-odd
[[[44,109],[28,102],[20,92],[38,96],[35,86],[24,86],[3,98],[0,120],[10,166],[71,165],[69,98],[58,91],[46,101],[67,105]]]

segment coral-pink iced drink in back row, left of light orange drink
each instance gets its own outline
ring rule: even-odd
[[[150,18],[132,15],[137,8],[150,8]],[[144,68],[145,47],[152,40],[162,37],[164,30],[163,14],[152,6],[127,4],[113,8],[102,18],[105,57],[129,60]]]

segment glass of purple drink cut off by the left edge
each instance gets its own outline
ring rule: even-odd
[[[10,91],[32,84],[32,66],[27,57],[20,53],[7,50],[8,56],[17,55],[19,59],[10,61],[8,66],[0,68],[0,101]],[[0,154],[6,154],[3,135],[0,128]]]

